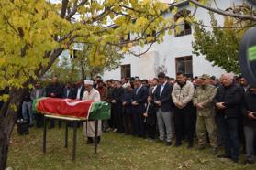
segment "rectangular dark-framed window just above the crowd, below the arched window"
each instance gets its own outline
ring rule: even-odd
[[[193,77],[192,56],[175,58],[176,74],[184,73],[187,77]]]

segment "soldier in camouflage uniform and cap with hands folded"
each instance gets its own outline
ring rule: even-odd
[[[209,84],[210,76],[203,74],[200,77],[201,85],[195,90],[193,102],[197,110],[196,135],[198,149],[204,149],[209,135],[213,154],[217,154],[217,128],[215,122],[215,107],[213,99],[217,88]]]

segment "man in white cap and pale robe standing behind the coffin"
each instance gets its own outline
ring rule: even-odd
[[[100,101],[99,91],[94,89],[93,80],[84,80],[85,91],[83,93],[83,100]],[[87,144],[94,143],[95,137],[95,121],[84,122],[83,124],[84,134],[87,136]],[[98,121],[98,133],[97,142],[100,142],[100,136],[102,134],[101,121]]]

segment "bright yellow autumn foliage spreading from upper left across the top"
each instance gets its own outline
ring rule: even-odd
[[[134,45],[161,42],[165,28],[174,23],[173,18],[162,16],[169,6],[158,0],[85,1],[80,5],[82,2],[70,0],[66,12],[76,11],[70,18],[61,18],[61,1],[0,1],[0,89],[22,87],[36,78],[52,62],[49,56],[56,49],[89,44],[93,48],[88,64],[104,66],[106,45],[127,52]],[[116,26],[106,27],[109,23]],[[162,35],[155,39],[157,32]]]

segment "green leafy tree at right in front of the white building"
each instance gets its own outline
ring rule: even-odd
[[[206,27],[200,21],[195,24],[194,53],[197,56],[204,55],[214,66],[239,74],[239,42],[245,31],[255,22],[241,22],[226,16],[221,27],[217,24],[215,16],[210,16],[212,30],[206,31]]]

